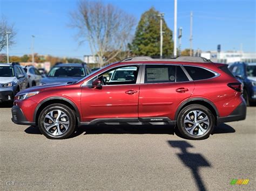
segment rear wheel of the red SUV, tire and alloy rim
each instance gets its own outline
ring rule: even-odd
[[[214,124],[212,112],[203,105],[188,105],[178,115],[178,130],[187,139],[207,138]]]

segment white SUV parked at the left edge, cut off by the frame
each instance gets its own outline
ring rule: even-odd
[[[19,63],[0,63],[0,102],[13,101],[28,86],[28,75]]]

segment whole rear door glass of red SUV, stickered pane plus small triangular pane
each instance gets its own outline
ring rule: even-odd
[[[144,83],[170,83],[189,81],[180,66],[146,65]]]

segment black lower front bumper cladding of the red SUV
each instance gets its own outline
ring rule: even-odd
[[[23,114],[23,111],[21,108],[19,108],[17,105],[14,105],[14,107],[11,108],[11,114],[12,118],[11,121],[19,124],[19,125],[32,125],[35,126],[35,122],[29,122],[26,117]]]

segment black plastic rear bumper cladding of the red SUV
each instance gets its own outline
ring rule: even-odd
[[[238,105],[235,110],[226,117],[218,117],[218,125],[221,123],[226,122],[235,122],[235,121],[241,121],[246,118],[246,103],[243,99],[243,101]]]

